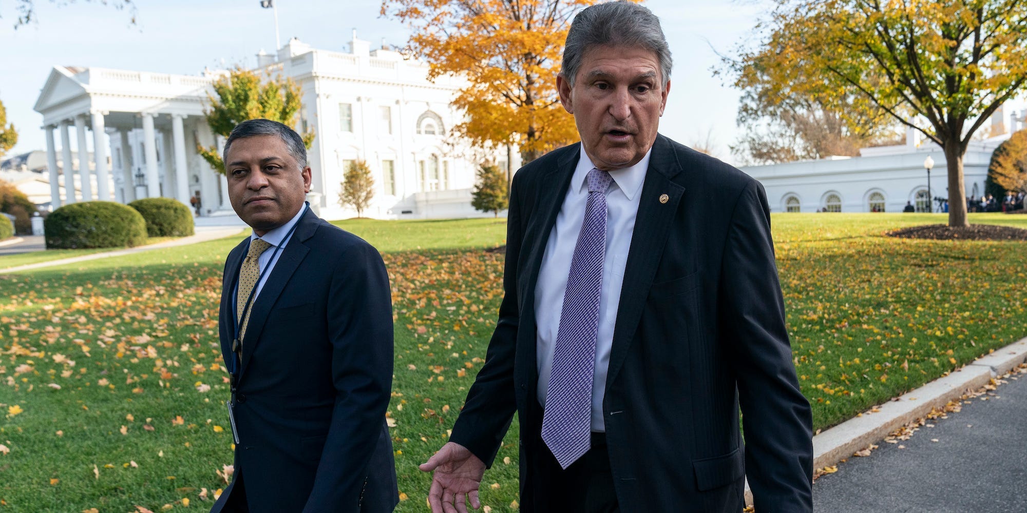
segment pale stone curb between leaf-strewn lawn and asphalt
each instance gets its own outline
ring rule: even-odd
[[[931,408],[944,406],[967,391],[987,385],[992,378],[1009,372],[1027,361],[1027,338],[982,356],[922,387],[906,392],[877,406],[877,412],[864,412],[813,436],[813,469],[828,467],[850,458],[853,452],[884,439],[892,431],[922,418]],[[753,505],[753,495],[746,482],[746,506]]]

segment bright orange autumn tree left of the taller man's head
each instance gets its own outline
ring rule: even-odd
[[[382,0],[381,13],[411,29],[407,52],[428,78],[467,80],[453,131],[478,147],[518,145],[525,163],[577,141],[557,74],[574,14],[597,0]]]

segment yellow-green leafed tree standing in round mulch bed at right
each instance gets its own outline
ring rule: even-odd
[[[922,132],[945,152],[949,226],[967,226],[963,155],[1027,82],[1027,2],[777,0],[762,27],[740,61],[762,55],[784,86],[857,98]]]

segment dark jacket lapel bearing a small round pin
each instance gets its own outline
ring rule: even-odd
[[[627,356],[627,349],[634,339],[635,329],[645,308],[656,267],[659,265],[667,243],[668,233],[674,224],[678,203],[685,192],[672,179],[681,172],[681,164],[670,142],[657,135],[649,158],[639,210],[635,219],[635,233],[632,235],[627,262],[624,266],[624,286],[620,289],[617,319],[613,328],[613,347],[610,350],[610,366],[607,370],[606,386],[609,387],[620,370]],[[660,201],[668,196],[667,202]]]

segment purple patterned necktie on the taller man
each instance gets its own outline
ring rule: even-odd
[[[542,440],[564,469],[592,446],[592,381],[606,252],[606,189],[612,180],[607,171],[588,171],[588,202],[571,259],[545,392]]]

